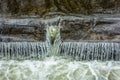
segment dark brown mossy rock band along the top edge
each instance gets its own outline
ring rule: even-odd
[[[92,14],[120,12],[119,0],[0,0],[0,12],[12,15],[43,15],[48,12]]]

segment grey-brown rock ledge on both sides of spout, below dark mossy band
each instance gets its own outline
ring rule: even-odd
[[[0,19],[0,41],[45,41],[45,25],[57,25],[59,17],[49,19]],[[62,40],[120,40],[120,18],[101,16],[61,17]]]

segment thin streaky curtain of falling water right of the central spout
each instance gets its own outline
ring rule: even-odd
[[[77,60],[120,60],[119,42],[63,42],[60,53]]]

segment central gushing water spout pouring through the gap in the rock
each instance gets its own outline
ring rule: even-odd
[[[61,44],[60,26],[47,26],[46,43],[48,44],[48,55],[59,55]]]

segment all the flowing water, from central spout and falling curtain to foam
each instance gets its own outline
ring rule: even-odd
[[[119,42],[61,42],[57,26],[46,39],[1,42],[0,80],[120,80]]]

